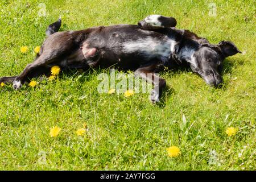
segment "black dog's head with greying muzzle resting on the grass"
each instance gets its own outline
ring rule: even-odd
[[[225,57],[241,51],[230,41],[221,41],[217,45],[203,43],[191,56],[191,69],[198,73],[208,85],[217,86],[222,82],[220,69]]]

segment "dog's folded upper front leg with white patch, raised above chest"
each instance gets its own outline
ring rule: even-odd
[[[146,30],[157,30],[159,28],[175,27],[177,21],[175,18],[162,15],[149,15],[142,21],[138,22],[138,26]]]

